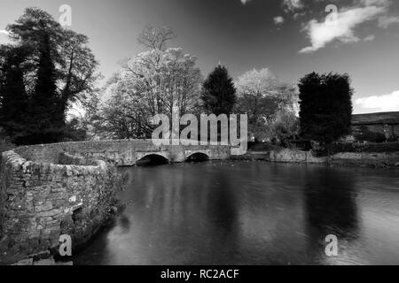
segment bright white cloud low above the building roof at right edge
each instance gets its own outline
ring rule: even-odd
[[[369,96],[356,99],[356,105],[376,111],[399,111],[399,90],[385,96]]]

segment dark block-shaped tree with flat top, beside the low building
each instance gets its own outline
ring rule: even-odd
[[[348,74],[309,73],[298,87],[304,137],[324,146],[350,134],[353,90]]]

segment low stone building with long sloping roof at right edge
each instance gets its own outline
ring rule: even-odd
[[[399,111],[353,115],[352,134],[356,139],[373,134],[377,140],[393,140],[399,136]]]

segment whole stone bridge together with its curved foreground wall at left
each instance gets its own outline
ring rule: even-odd
[[[0,264],[59,247],[59,235],[84,242],[114,210],[116,165],[147,155],[183,162],[195,153],[231,156],[230,146],[155,146],[151,140],[64,142],[20,147],[2,154],[0,165]],[[20,257],[19,257],[20,256]],[[6,256],[10,258],[10,256]]]

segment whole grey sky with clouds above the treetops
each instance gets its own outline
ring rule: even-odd
[[[204,76],[219,62],[234,79],[254,68],[294,84],[311,72],[348,73],[355,113],[399,111],[396,0],[0,0],[0,43],[26,7],[59,19],[63,4],[105,80],[143,51],[145,25],[169,26],[177,35],[169,47],[198,57]]]

